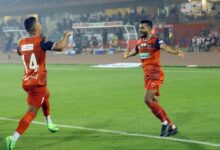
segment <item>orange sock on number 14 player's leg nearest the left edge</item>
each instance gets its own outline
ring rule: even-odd
[[[20,120],[19,125],[16,129],[16,131],[22,135],[27,128],[29,127],[30,123],[32,122],[32,120],[34,120],[36,114],[33,112],[27,112],[23,118]]]

